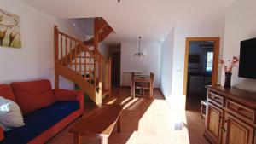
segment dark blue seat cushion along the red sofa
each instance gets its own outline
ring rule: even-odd
[[[4,132],[1,144],[26,144],[79,109],[79,101],[58,101],[24,117],[25,126]]]

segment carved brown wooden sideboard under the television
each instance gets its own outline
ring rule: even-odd
[[[256,144],[256,94],[207,86],[204,137],[212,144]]]

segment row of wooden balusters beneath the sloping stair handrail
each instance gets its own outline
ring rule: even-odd
[[[56,28],[56,27],[55,27]],[[58,64],[72,69],[84,76],[84,80],[91,82],[94,80],[94,60],[95,55],[81,41],[68,36],[64,32],[58,32]]]

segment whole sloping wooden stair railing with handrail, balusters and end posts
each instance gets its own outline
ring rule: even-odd
[[[92,101],[100,105],[105,85],[103,65],[104,58],[99,52],[90,50],[84,43],[60,32],[55,26],[55,88],[59,88],[61,75],[78,84]]]

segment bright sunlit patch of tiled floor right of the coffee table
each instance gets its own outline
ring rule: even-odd
[[[135,118],[136,108],[143,104],[147,99],[135,101],[127,110],[133,110]],[[154,100],[143,113],[143,116],[138,119],[137,130],[130,136],[126,144],[189,144],[189,132],[186,128],[186,116],[183,109],[178,105],[172,109],[166,100]],[[140,111],[140,110],[137,110]],[[131,122],[131,121],[130,121]],[[183,122],[181,130],[175,130],[175,124]],[[129,122],[127,122],[129,123]],[[132,124],[130,125],[132,126]],[[131,142],[132,141],[132,142]]]

